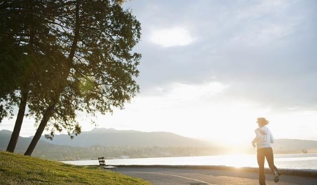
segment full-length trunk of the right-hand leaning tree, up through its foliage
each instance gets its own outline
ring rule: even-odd
[[[68,78],[68,74],[70,72],[71,66],[72,66],[72,61],[73,58],[75,56],[75,51],[77,48],[77,42],[78,42],[78,38],[79,38],[79,27],[80,27],[80,23],[79,23],[79,0],[77,0],[76,2],[76,9],[75,9],[75,33],[74,33],[74,39],[73,39],[73,43],[71,45],[70,48],[70,53],[67,59],[67,69],[65,70],[65,73],[63,74],[63,80],[67,81]],[[61,87],[61,91],[63,90],[64,86]],[[61,93],[61,92],[60,92]],[[57,104],[59,95],[56,95],[56,97],[54,97],[53,99],[53,104],[47,108],[47,110],[45,111],[45,113],[43,114],[43,118],[41,120],[41,123],[28,147],[28,149],[25,151],[24,155],[32,155],[32,152],[34,150],[34,148],[36,147],[38,141],[40,140],[42,133],[48,123],[48,121],[50,120],[50,117],[53,114],[53,111],[55,109],[55,105]]]

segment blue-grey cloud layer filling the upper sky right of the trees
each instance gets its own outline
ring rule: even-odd
[[[316,1],[134,0],[126,5],[141,20],[143,37],[165,46],[145,39],[136,48],[143,54],[138,78],[143,93],[216,76],[230,84],[230,97],[273,109],[317,109]],[[176,34],[182,29],[175,25],[184,25],[183,34]]]

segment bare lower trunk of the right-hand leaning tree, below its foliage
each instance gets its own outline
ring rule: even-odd
[[[55,107],[56,104],[53,104],[52,106],[48,107],[45,111],[45,113],[43,114],[43,118],[41,120],[41,123],[38,127],[38,129],[36,130],[36,133],[28,147],[28,149],[25,151],[24,155],[31,155],[34,148],[36,147],[37,143],[39,142],[41,136],[42,136],[42,133],[46,127],[46,125],[48,124],[48,121],[52,115],[52,112],[53,112],[53,109]]]

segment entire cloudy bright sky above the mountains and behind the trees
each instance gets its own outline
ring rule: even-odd
[[[141,92],[98,127],[166,131],[223,145],[317,140],[316,0],[131,0],[141,22]],[[78,113],[83,131],[94,128]],[[5,119],[0,130],[12,130]],[[20,135],[35,133],[25,119]]]

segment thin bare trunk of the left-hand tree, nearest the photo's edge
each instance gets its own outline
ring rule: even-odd
[[[24,118],[25,107],[26,107],[26,103],[28,101],[28,95],[29,95],[28,89],[22,90],[21,100],[20,100],[20,105],[19,105],[19,112],[18,112],[18,115],[16,116],[14,129],[13,129],[8,147],[6,148],[6,151],[13,152],[15,149],[15,146],[18,142],[19,134],[20,134],[23,118]]]

